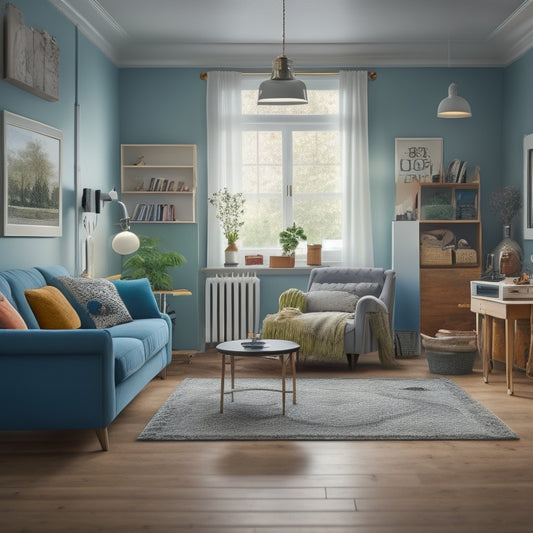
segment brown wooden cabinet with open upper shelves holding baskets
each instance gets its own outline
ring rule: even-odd
[[[419,205],[420,331],[474,329],[470,281],[481,277],[482,262],[479,183],[422,183]],[[432,247],[434,238],[451,246]]]

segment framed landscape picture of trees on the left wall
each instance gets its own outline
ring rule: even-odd
[[[61,236],[60,130],[3,112],[1,234]]]

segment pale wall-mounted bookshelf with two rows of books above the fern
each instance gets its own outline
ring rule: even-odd
[[[120,159],[132,224],[196,222],[196,145],[122,144]]]

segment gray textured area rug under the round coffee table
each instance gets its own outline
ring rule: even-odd
[[[236,379],[239,388],[281,387],[280,379]],[[287,388],[292,381],[287,379]],[[229,381],[226,390],[229,389]],[[186,378],[139,440],[507,440],[518,436],[453,381],[298,379],[297,404],[279,392],[225,396],[220,379]]]

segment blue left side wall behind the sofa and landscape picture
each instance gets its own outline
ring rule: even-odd
[[[7,2],[0,1],[4,14]],[[63,132],[62,190],[63,235],[56,238],[0,237],[0,268],[60,263],[76,272],[77,215],[81,196],[75,179],[76,71],[79,73],[80,190],[83,187],[118,186],[118,71],[87,39],[76,46],[76,28],[48,2],[20,0],[16,8],[26,26],[46,30],[56,37],[60,50],[59,101],[47,102],[0,79],[0,110],[6,109]],[[79,51],[78,55],[76,51]],[[109,253],[113,228],[104,214],[97,230],[98,275],[114,273],[120,259]]]

